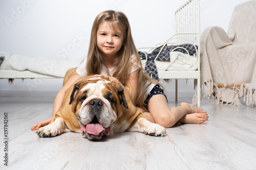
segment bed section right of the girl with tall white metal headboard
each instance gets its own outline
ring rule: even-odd
[[[175,79],[176,101],[178,79],[194,79],[192,103],[198,107],[201,100],[199,3],[199,0],[189,0],[175,11],[176,33],[165,42],[138,48],[142,64],[152,78]]]

